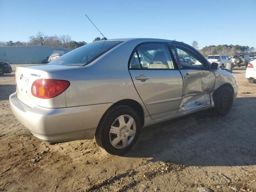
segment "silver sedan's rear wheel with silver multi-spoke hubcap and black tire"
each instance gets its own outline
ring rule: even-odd
[[[129,121],[132,122],[131,126]],[[109,154],[122,155],[132,148],[139,132],[140,118],[137,112],[128,106],[116,105],[103,115],[95,139],[98,146]]]

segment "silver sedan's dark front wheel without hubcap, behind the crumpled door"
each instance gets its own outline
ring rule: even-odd
[[[220,115],[224,116],[228,114],[230,111],[233,100],[234,100],[234,93],[232,89],[228,86],[221,86],[216,90],[213,94],[214,99],[214,111]]]

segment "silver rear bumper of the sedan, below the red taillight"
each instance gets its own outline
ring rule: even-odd
[[[10,95],[14,116],[30,132],[47,142],[93,139],[98,123],[112,105],[95,104],[69,108],[30,108],[23,104],[16,92]]]

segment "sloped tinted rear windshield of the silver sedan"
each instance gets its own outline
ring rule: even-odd
[[[120,41],[99,41],[76,48],[49,64],[84,66],[114,48]]]

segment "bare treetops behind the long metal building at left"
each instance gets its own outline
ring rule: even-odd
[[[103,38],[96,37],[93,42],[103,40]],[[87,42],[79,41],[76,42],[71,39],[69,35],[44,35],[42,32],[38,32],[35,36],[32,35],[29,37],[29,41],[27,42],[3,42],[0,41],[0,46],[28,46],[28,45],[41,45],[41,46],[50,46],[50,47],[59,47],[59,48],[67,48],[67,49],[76,49],[80,46],[86,45]]]

